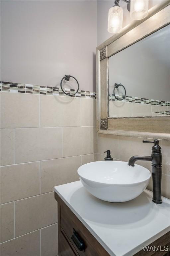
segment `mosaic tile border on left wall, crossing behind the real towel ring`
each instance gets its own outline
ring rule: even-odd
[[[59,87],[33,85],[33,84],[20,84],[20,83],[12,83],[12,82],[4,82],[4,81],[0,82],[0,91],[96,99],[96,92],[81,90],[81,91],[78,91],[76,95],[71,96],[71,95],[64,94],[61,88]],[[73,94],[76,92],[76,90],[74,89],[66,89],[66,88],[64,89],[64,91],[67,92],[68,94]]]

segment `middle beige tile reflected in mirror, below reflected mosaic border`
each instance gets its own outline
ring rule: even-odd
[[[132,103],[133,116],[150,116],[151,105]]]

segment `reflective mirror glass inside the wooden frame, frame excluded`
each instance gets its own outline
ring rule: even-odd
[[[170,115],[170,25],[109,58],[109,117]]]

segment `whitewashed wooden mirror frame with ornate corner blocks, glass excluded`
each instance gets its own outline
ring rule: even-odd
[[[96,48],[98,133],[170,140],[169,116],[111,118],[108,113],[109,57],[170,24],[169,5],[169,0],[155,5],[146,18],[133,21]]]

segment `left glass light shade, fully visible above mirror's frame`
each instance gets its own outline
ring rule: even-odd
[[[108,32],[119,33],[123,24],[123,8],[121,6],[113,6],[109,9],[108,16]]]

